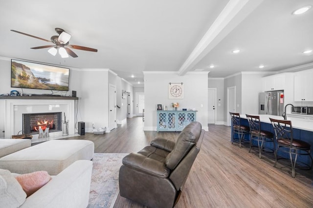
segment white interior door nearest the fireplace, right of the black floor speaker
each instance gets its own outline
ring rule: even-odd
[[[109,130],[116,126],[116,91],[115,86],[109,86]]]

